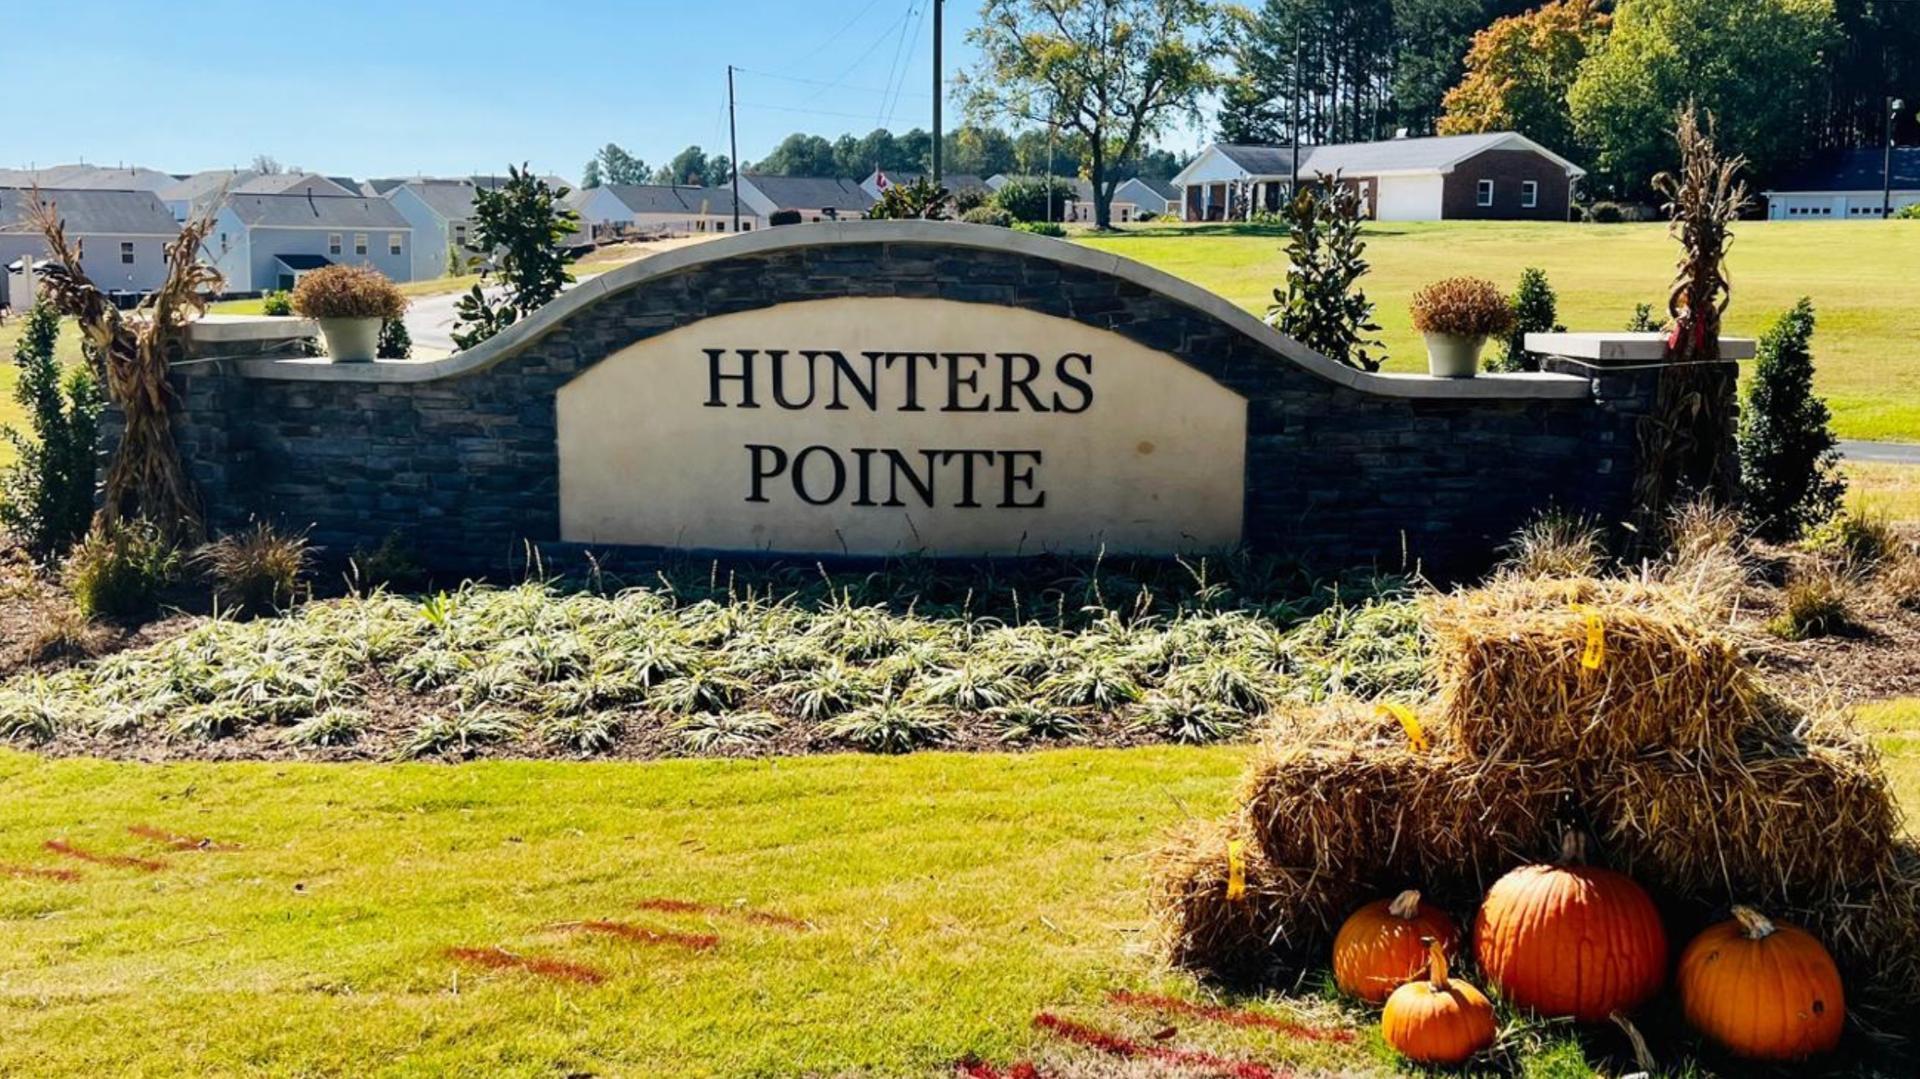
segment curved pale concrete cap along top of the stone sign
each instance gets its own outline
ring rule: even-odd
[[[1162,273],[1133,259],[1123,259],[1081,244],[1035,236],[1014,228],[991,225],[960,225],[952,221],[822,221],[816,225],[781,225],[755,232],[735,232],[722,240],[676,248],[659,255],[649,255],[616,271],[599,275],[561,294],[524,323],[509,326],[499,336],[478,348],[455,353],[447,359],[432,361],[378,361],[378,363],[328,363],[324,359],[255,359],[240,361],[238,372],[250,378],[286,378],[313,382],[432,382],[484,371],[509,359],[534,344],[541,334],[557,328],[572,315],[601,300],[639,288],[705,263],[787,252],[797,248],[824,248],[835,244],[927,244],[939,248],[973,248],[989,252],[1012,252],[1035,259],[1046,259],[1064,267],[1077,267],[1139,284],[1165,296],[1177,303],[1210,315],[1229,328],[1284,355],[1306,371],[1342,386],[1352,386],[1365,394],[1384,397],[1480,397],[1480,399],[1528,399],[1528,397],[1586,397],[1590,384],[1586,378],[1571,374],[1484,374],[1478,378],[1432,378],[1427,374],[1377,374],[1357,371],[1344,363],[1302,346],[1300,342],[1267,326],[1260,319],[1235,307],[1225,298],[1208,292],[1192,282]]]

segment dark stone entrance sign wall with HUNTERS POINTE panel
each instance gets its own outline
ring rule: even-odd
[[[933,221],[662,252],[445,359],[336,365],[311,332],[194,328],[175,430],[209,526],[461,572],[1252,547],[1444,576],[1546,505],[1624,518],[1655,386],[1354,371],[1123,257]]]

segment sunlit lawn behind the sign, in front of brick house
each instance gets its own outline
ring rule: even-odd
[[[1284,238],[1244,227],[1146,227],[1081,242],[1139,259],[1248,311],[1265,313],[1284,282]],[[1620,328],[1634,303],[1665,307],[1676,244],[1665,225],[1384,223],[1369,228],[1367,296],[1379,307],[1390,371],[1427,363],[1407,301],[1450,275],[1511,288],[1540,267],[1574,330]],[[1920,221],[1747,221],[1728,257],[1734,305],[1728,328],[1757,336],[1799,296],[1811,296],[1818,390],[1841,438],[1920,442]]]

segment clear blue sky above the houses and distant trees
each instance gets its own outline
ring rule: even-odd
[[[526,159],[578,179],[609,140],[649,165],[726,152],[728,63],[755,159],[791,131],[927,127],[929,4],[0,0],[0,165],[271,154],[384,177]],[[975,21],[977,0],[948,0],[948,71],[973,61]]]

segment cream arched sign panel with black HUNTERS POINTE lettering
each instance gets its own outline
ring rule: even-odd
[[[1027,309],[814,300],[616,351],[557,401],[561,538],[831,555],[1240,541],[1246,401]]]

